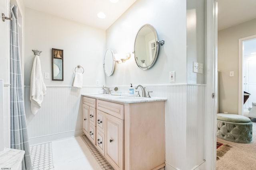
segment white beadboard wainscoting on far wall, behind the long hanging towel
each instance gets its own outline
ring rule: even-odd
[[[30,86],[25,87],[25,110],[30,145],[82,135],[82,93],[99,87],[48,86],[42,107],[30,111]]]

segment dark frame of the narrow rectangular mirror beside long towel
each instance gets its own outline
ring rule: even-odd
[[[59,52],[60,55],[56,56],[55,52]],[[61,66],[62,66],[62,70],[60,70],[61,73],[61,79],[56,79],[54,78],[54,59],[56,60],[61,60]],[[63,81],[64,80],[64,68],[63,68],[63,50],[61,49],[53,49],[52,48],[52,80],[59,80],[59,81]]]

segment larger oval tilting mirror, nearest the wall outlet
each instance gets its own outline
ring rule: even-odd
[[[145,24],[140,27],[134,42],[136,64],[143,70],[152,67],[158,55],[158,39],[154,27]]]

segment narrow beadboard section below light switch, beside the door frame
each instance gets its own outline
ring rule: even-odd
[[[205,86],[189,85],[187,91],[186,169],[204,162],[204,91]]]

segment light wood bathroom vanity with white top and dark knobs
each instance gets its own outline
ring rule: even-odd
[[[165,100],[83,94],[83,133],[115,170],[165,166]]]

